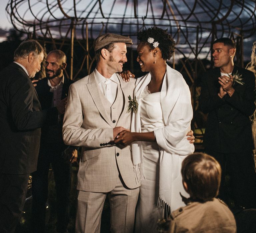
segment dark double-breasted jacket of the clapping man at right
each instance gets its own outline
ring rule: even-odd
[[[234,67],[242,75],[244,85],[234,83],[234,94],[219,98],[220,69],[207,71],[202,77],[202,89],[199,105],[203,113],[208,113],[204,134],[206,150],[222,153],[252,150],[252,125],[249,119],[255,111],[255,76],[252,72]]]

